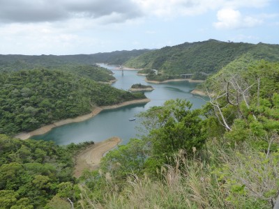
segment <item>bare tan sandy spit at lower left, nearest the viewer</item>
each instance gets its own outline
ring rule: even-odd
[[[119,137],[112,137],[105,141],[97,142],[83,150],[75,157],[75,173],[74,176],[79,178],[82,175],[84,169],[93,171],[97,169],[100,160],[107,151],[112,150],[121,142]]]

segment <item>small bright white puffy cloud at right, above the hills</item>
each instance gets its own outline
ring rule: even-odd
[[[243,17],[239,10],[233,10],[231,8],[218,10],[217,13],[218,22],[214,22],[213,26],[216,29],[239,29],[246,27],[253,27],[262,24],[262,20],[255,17]]]

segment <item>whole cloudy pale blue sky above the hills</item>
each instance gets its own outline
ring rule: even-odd
[[[0,54],[279,44],[279,0],[0,0]]]

